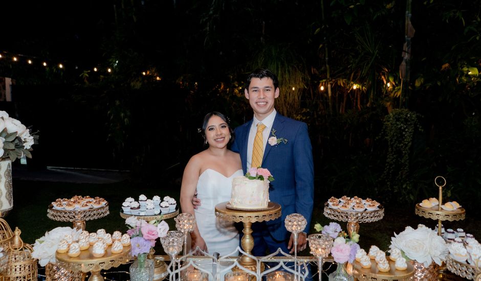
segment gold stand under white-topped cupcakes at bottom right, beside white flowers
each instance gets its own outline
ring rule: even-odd
[[[370,268],[363,268],[358,261],[354,261],[353,263],[353,275],[359,281],[374,281],[374,280],[400,280],[400,281],[408,281],[411,280],[412,275],[414,275],[414,266],[411,263],[407,264],[406,270],[397,270],[395,267],[395,262],[388,260],[390,269],[388,272],[381,272],[377,268],[377,263],[372,260]]]

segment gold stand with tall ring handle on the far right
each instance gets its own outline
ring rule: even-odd
[[[436,182],[436,180],[438,179],[442,179],[444,183],[438,184],[438,182]],[[414,210],[414,212],[416,213],[416,215],[424,217],[426,219],[438,220],[438,235],[441,236],[441,222],[464,220],[466,210],[463,207],[459,207],[452,211],[442,209],[441,205],[443,204],[443,187],[446,185],[446,179],[442,176],[437,176],[434,179],[434,183],[438,185],[439,188],[439,205],[433,206],[431,208],[425,208],[418,203],[416,204],[416,209]]]

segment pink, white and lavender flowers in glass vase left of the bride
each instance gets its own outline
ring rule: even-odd
[[[151,220],[146,222],[139,220],[135,216],[125,220],[129,228],[127,234],[130,236],[130,250],[133,256],[137,256],[140,263],[145,261],[150,248],[154,247],[157,238],[165,237],[169,230],[169,225],[165,221]]]

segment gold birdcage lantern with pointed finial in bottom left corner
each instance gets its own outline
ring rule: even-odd
[[[37,260],[33,259],[33,248],[20,239],[20,229],[15,227],[7,252],[8,262],[0,281],[37,280]]]

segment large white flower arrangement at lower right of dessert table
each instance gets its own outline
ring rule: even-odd
[[[394,233],[389,248],[400,249],[408,259],[423,263],[426,267],[433,261],[441,265],[449,253],[444,239],[423,224],[418,225],[417,229],[407,226],[398,235]]]

